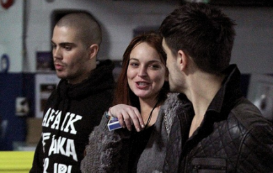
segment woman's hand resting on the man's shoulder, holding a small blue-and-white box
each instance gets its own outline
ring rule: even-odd
[[[118,122],[123,128],[127,127],[129,131],[132,131],[132,124],[137,131],[141,131],[145,128],[143,119],[139,110],[133,106],[126,104],[117,104],[109,108],[109,115],[117,117]]]

